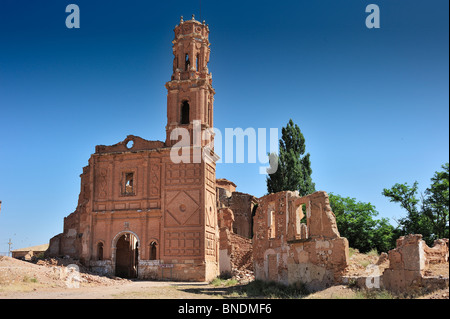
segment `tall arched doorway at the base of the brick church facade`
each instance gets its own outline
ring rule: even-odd
[[[122,232],[116,235],[115,275],[122,278],[136,278],[139,264],[139,239],[132,232]]]

